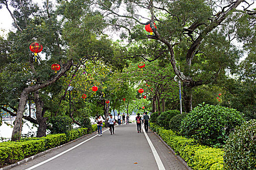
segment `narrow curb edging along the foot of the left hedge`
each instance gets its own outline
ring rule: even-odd
[[[105,129],[105,127],[102,128],[102,130],[103,130],[103,129]],[[0,168],[0,170],[11,170],[12,168],[17,167],[17,166],[20,166],[21,164],[24,164],[24,163],[26,163],[26,162],[28,162],[28,161],[31,161],[31,160],[33,160],[34,158],[40,157],[40,156],[42,156],[42,155],[44,155],[44,154],[46,154],[46,153],[50,153],[50,152],[52,152],[52,151],[54,151],[54,150],[56,150],[56,149],[59,149],[60,147],[63,147],[63,146],[68,145],[68,144],[70,144],[70,143],[76,142],[77,140],[79,140],[79,139],[81,139],[81,138],[83,138],[83,137],[90,136],[90,135],[93,135],[93,134],[96,134],[96,133],[98,133],[98,131],[94,131],[94,132],[92,132],[92,133],[90,133],[90,134],[86,134],[85,136],[81,136],[81,137],[79,137],[79,138],[77,138],[77,139],[74,139],[74,140],[72,140],[72,141],[69,141],[68,143],[65,143],[65,144],[63,144],[63,145],[57,146],[57,147],[55,147],[55,148],[48,149],[48,150],[43,151],[43,152],[41,152],[41,153],[37,153],[37,154],[35,154],[35,155],[33,155],[33,156],[30,156],[30,157],[28,157],[28,158],[22,159],[22,160],[20,160],[20,161],[14,163],[14,164],[7,165],[7,166],[5,166],[5,167],[2,167],[2,168]]]

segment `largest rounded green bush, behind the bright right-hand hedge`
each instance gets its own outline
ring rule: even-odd
[[[235,109],[199,104],[182,120],[180,131],[201,144],[220,147],[243,121],[243,115]]]

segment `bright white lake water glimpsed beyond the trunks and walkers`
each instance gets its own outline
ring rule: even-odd
[[[131,121],[135,121],[136,115],[131,115],[130,116],[130,122]],[[117,119],[117,116],[116,116]],[[12,118],[12,123],[15,119]],[[91,118],[91,121],[94,122],[95,119]],[[2,125],[0,126],[0,137],[4,137],[4,138],[10,138],[12,136],[12,131],[13,128],[11,126],[6,125],[4,122],[11,124],[11,120],[6,120],[6,121],[2,121]],[[33,124],[30,121],[24,120],[23,119],[23,126],[22,126],[22,131],[21,134],[28,134],[28,133],[37,133],[37,127],[33,126]],[[74,127],[79,127],[77,125],[75,125]],[[49,133],[49,131],[48,131]]]

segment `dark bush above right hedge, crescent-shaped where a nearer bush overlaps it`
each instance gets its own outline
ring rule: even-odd
[[[180,114],[178,110],[168,110],[168,111],[162,112],[160,116],[158,116],[157,118],[157,124],[165,129],[170,129],[169,122],[174,116],[178,114]]]

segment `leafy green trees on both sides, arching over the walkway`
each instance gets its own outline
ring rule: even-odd
[[[47,118],[58,115],[79,125],[77,118],[106,116],[109,109],[128,114],[142,106],[158,113],[178,109],[175,75],[182,81],[186,112],[205,101],[255,118],[252,0],[57,2],[45,0],[39,8],[32,0],[0,0],[16,29],[6,39],[0,37],[0,106],[17,116],[12,140],[20,138],[22,119],[38,124],[37,136],[45,136]],[[145,32],[146,24],[153,35]],[[122,41],[111,40],[107,34],[112,31],[120,33]],[[44,47],[38,62],[28,48],[34,41]],[[138,68],[142,61],[143,71]],[[57,74],[50,69],[53,63],[61,66]],[[75,87],[71,101],[69,85]],[[96,94],[93,85],[99,87]],[[144,89],[146,99],[141,99],[138,88]],[[82,94],[87,95],[85,100]],[[23,115],[31,102],[37,119]]]

